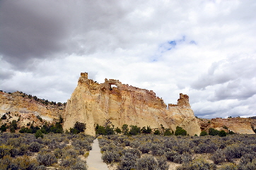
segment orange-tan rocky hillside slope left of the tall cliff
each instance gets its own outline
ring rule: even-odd
[[[6,93],[0,92],[0,117],[8,113],[6,120],[1,120],[0,125],[18,121],[18,128],[27,127],[33,123],[34,126],[42,126],[45,122],[59,120],[64,113],[65,106],[62,104],[42,104],[37,102],[31,95],[22,92]],[[37,116],[40,116],[40,121]],[[28,126],[29,127],[29,126]]]

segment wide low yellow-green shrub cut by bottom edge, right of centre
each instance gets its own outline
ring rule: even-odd
[[[216,165],[206,162],[206,160],[199,158],[194,159],[192,162],[187,164],[182,164],[182,166],[178,166],[177,170],[215,170]]]

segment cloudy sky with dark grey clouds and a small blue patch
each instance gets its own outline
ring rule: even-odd
[[[0,1],[0,90],[66,102],[81,72],[256,116],[256,1]]]

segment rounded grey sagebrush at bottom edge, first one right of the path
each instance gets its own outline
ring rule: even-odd
[[[121,159],[120,164],[117,166],[118,170],[130,170],[136,168],[136,159],[137,157],[134,156],[131,152],[125,152]]]

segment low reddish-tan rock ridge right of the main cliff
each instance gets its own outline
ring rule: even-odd
[[[240,117],[228,119],[201,119],[199,120],[199,124],[201,129],[206,131],[208,131],[209,128],[215,128],[216,130],[225,130],[226,132],[228,132],[228,130],[232,130],[234,133],[255,134],[252,127],[256,128],[256,119]]]

